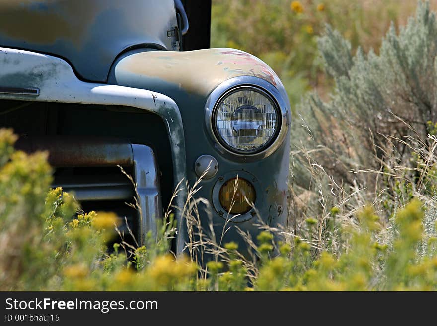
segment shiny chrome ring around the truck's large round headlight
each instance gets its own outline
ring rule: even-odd
[[[242,88],[253,88],[253,90],[263,93],[263,95],[271,99],[275,104],[278,117],[278,128],[272,139],[263,147],[251,152],[240,151],[226,144],[224,140],[218,136],[214,122],[217,111],[216,108],[221,99]],[[286,103],[280,91],[271,83],[253,76],[234,77],[224,81],[211,92],[205,106],[205,125],[216,149],[223,156],[242,162],[248,160],[253,161],[270,156],[283,143],[287,135],[288,125],[290,124],[288,108],[289,104]]]

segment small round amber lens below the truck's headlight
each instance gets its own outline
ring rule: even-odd
[[[252,205],[255,203],[255,188],[245,179],[233,178],[221,186],[218,198],[221,207],[226,212],[245,214],[252,209]]]

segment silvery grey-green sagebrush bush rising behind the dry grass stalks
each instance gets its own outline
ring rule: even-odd
[[[419,2],[416,16],[399,33],[390,27],[378,55],[358,48],[352,56],[350,42],[327,26],[318,44],[326,72],[335,80],[334,91],[329,102],[316,93],[302,101],[293,149],[312,149],[311,157],[337,182],[352,185],[358,180],[368,186],[372,180],[365,180],[366,175],[349,172],[379,169],[387,135],[417,135],[428,143],[437,115],[436,35],[436,14],[428,2]],[[408,146],[394,145],[401,160],[410,159]],[[308,171],[300,169],[296,175],[306,176],[297,180],[300,185],[309,183]]]

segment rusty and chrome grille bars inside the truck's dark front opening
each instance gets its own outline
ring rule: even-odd
[[[147,232],[156,235],[162,205],[159,173],[150,147],[127,139],[83,136],[22,137],[15,146],[26,152],[47,150],[49,163],[57,168],[53,187],[72,192],[82,203],[93,202],[98,207],[98,202],[131,201],[135,196],[139,206],[136,219],[132,214],[129,219],[120,215],[119,209],[115,212],[131,222],[127,225],[135,230],[139,244]],[[121,167],[129,169],[125,173],[132,173],[132,181]],[[127,225],[122,231],[127,231]]]

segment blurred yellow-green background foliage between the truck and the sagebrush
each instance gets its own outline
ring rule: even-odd
[[[254,54],[279,75],[292,110],[301,96],[317,89],[322,97],[331,78],[323,74],[317,37],[330,24],[364,51],[381,44],[393,21],[397,28],[414,12],[417,0],[213,0],[211,46]],[[437,8],[437,1],[431,1]]]

